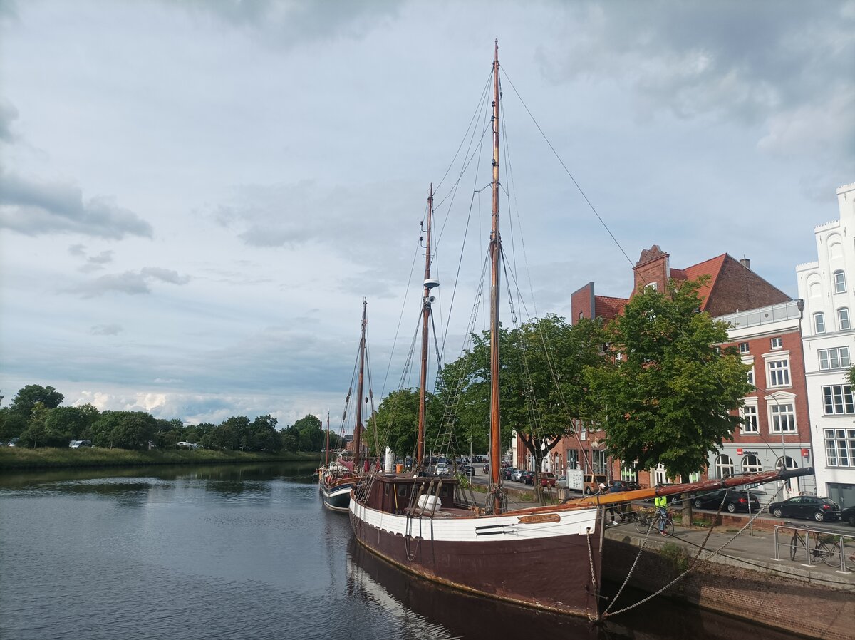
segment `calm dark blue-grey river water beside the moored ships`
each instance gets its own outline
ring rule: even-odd
[[[312,471],[0,474],[0,638],[792,638],[664,600],[592,627],[439,588],[359,548]]]

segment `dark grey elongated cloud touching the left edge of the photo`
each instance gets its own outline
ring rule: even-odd
[[[75,233],[112,240],[152,235],[148,222],[109,199],[84,202],[77,187],[5,172],[0,173],[0,228],[31,236]]]

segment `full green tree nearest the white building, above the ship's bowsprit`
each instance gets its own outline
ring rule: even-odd
[[[636,293],[606,327],[613,364],[587,370],[606,446],[636,470],[662,464],[687,477],[705,469],[707,454],[733,439],[740,418],[731,411],[752,391],[736,349],[718,347],[728,325],[699,311],[701,284]]]

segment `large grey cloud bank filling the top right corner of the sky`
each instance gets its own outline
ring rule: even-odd
[[[563,43],[567,50],[539,53],[554,80],[625,81],[645,99],[648,114],[669,110],[679,118],[760,124],[774,138],[767,146],[788,149],[801,149],[800,139],[787,139],[775,119],[799,130],[824,113],[845,127],[827,127],[819,145],[852,157],[845,142],[852,99],[826,110],[841,94],[852,95],[852,2],[585,3],[573,5],[569,18],[581,36]]]

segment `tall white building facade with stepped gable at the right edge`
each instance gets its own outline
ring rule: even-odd
[[[799,264],[802,341],[817,495],[855,505],[855,184],[837,189],[840,219],[814,229],[817,262]]]

